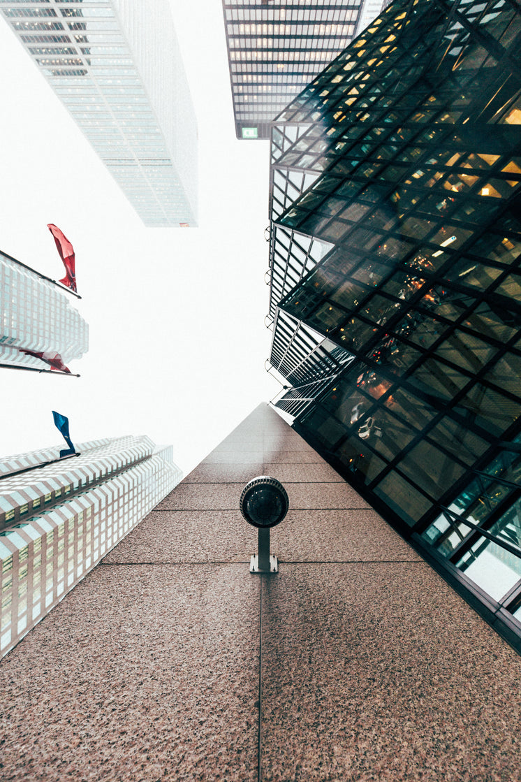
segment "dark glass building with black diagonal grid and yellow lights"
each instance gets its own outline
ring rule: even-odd
[[[272,135],[279,407],[505,634],[521,631],[520,19],[510,0],[396,0]]]

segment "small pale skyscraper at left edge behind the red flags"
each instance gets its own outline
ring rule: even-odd
[[[70,294],[0,253],[0,364],[49,370],[49,361],[59,368],[60,361],[68,364],[87,349],[88,326],[71,307]]]

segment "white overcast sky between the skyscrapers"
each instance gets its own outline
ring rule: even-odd
[[[0,249],[63,275],[46,227],[76,252],[71,301],[90,328],[80,378],[0,369],[0,456],[148,434],[187,472],[280,389],[266,374],[268,142],[238,142],[220,0],[171,0],[198,118],[200,228],[145,228],[0,19]]]

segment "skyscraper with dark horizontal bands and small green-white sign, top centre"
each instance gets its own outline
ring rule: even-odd
[[[383,5],[223,0],[237,138],[269,138],[269,122]]]

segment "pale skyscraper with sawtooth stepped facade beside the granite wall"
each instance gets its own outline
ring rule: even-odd
[[[172,447],[146,436],[93,440],[2,460],[0,656],[180,482]],[[10,472],[5,472],[9,467]]]

